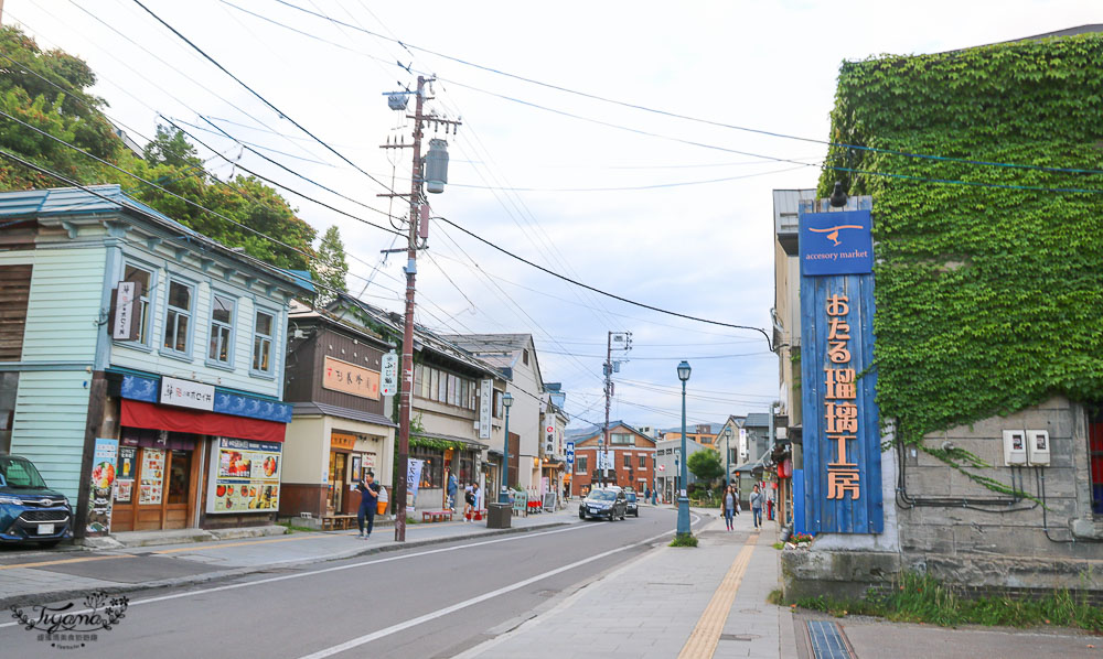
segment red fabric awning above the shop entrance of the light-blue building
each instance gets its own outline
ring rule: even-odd
[[[122,399],[122,425],[258,442],[282,442],[286,423]]]

